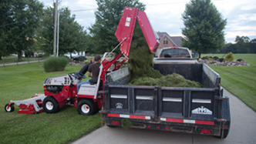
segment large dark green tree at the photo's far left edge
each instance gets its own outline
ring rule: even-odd
[[[2,1],[2,4],[7,13],[3,15],[3,22],[6,24],[2,25],[6,27],[1,28],[3,32],[1,41],[5,41],[1,53],[7,55],[15,52],[18,54],[18,60],[21,61],[22,52],[33,49],[35,29],[42,16],[43,5],[37,0]]]

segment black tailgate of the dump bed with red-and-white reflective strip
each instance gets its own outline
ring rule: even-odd
[[[214,125],[217,89],[109,85],[109,117]]]

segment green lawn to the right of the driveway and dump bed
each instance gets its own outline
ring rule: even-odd
[[[218,56],[224,54],[204,54]],[[234,54],[234,59],[244,59],[251,66],[211,66],[221,75],[221,85],[241,99],[256,112],[256,54]]]

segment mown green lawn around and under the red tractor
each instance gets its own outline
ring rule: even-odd
[[[10,100],[29,99],[43,93],[46,78],[78,72],[82,66],[67,66],[66,72],[44,73],[42,62],[0,67],[0,143],[66,143],[98,129],[100,115],[81,116],[75,107],[66,106],[56,114],[38,115],[5,112]],[[88,78],[87,78],[88,79]]]

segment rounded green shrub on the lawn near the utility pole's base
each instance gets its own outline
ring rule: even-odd
[[[43,62],[45,72],[59,72],[64,71],[66,65],[69,63],[69,59],[65,57],[49,57]]]

